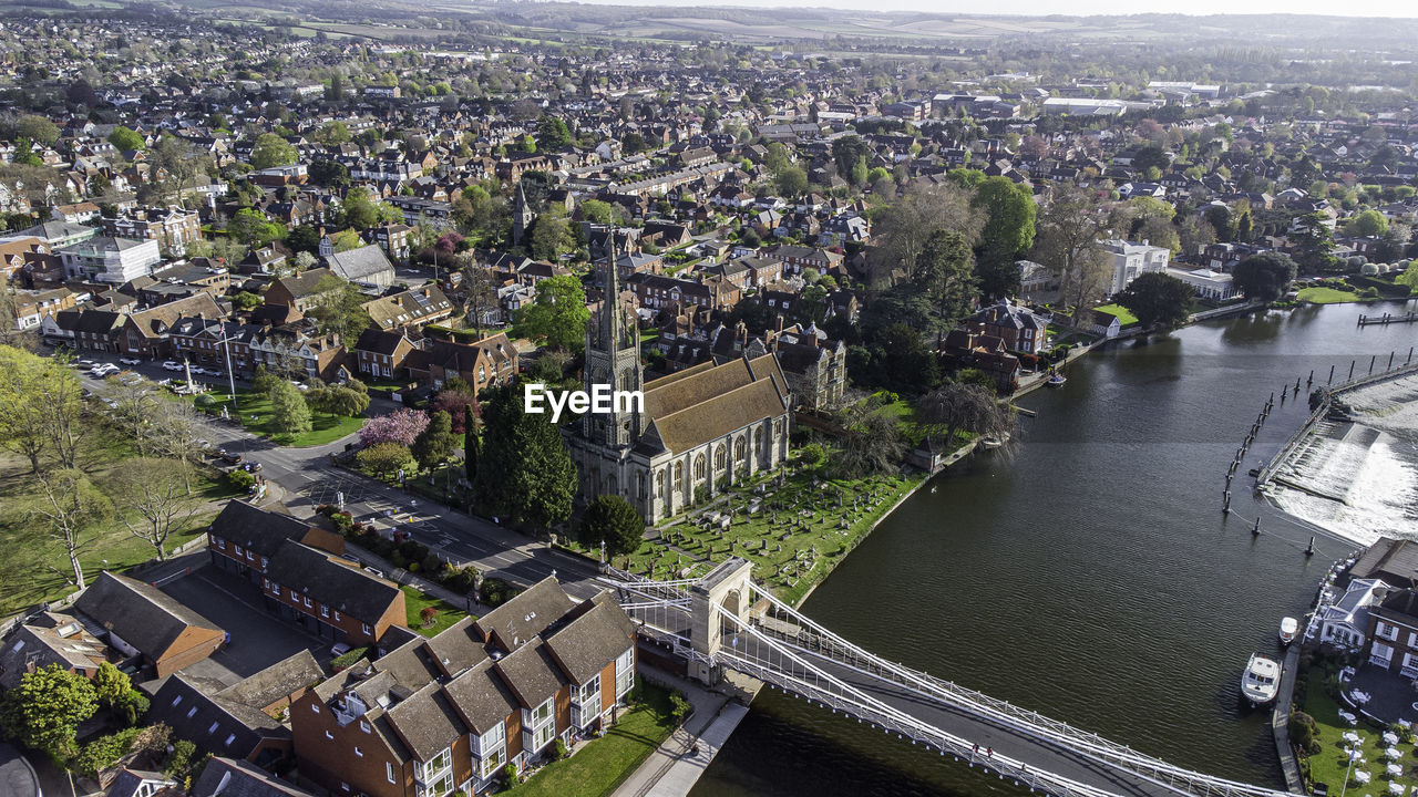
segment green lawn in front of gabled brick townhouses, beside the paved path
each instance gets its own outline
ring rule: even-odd
[[[515,797],[604,797],[675,729],[669,692],[641,682],[644,701],[621,713],[605,736],[587,743],[569,759],[546,766],[522,786],[503,791]]]

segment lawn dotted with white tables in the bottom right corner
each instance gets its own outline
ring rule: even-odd
[[[1319,739],[1322,747],[1319,753],[1307,759],[1310,779],[1314,783],[1327,783],[1330,794],[1339,794],[1344,788],[1344,773],[1347,771],[1349,760],[1346,757],[1343,736],[1349,730],[1356,730],[1363,739],[1360,750],[1364,760],[1354,762],[1354,770],[1367,770],[1373,776],[1373,780],[1367,784],[1360,784],[1350,774],[1349,791],[1353,791],[1356,797],[1363,794],[1374,794],[1375,797],[1387,794],[1390,783],[1401,783],[1407,787],[1418,784],[1418,757],[1414,756],[1414,746],[1398,745],[1398,749],[1407,753],[1398,762],[1404,767],[1404,773],[1398,777],[1390,777],[1385,771],[1388,760],[1384,759],[1385,745],[1383,730],[1364,722],[1358,728],[1344,725],[1339,718],[1339,705],[1324,693],[1322,669],[1310,669],[1299,708],[1314,718],[1316,739]]]

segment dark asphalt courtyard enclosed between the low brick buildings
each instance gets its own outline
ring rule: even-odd
[[[309,650],[322,665],[330,658],[328,641],[267,614],[255,584],[231,573],[203,567],[163,584],[162,590],[231,634],[225,648],[184,668],[184,675],[211,678],[230,686],[301,650]]]

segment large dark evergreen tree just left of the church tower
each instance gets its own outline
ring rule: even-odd
[[[576,465],[550,417],[527,414],[522,390],[512,386],[498,389],[484,407],[474,488],[486,511],[539,529],[571,516]]]

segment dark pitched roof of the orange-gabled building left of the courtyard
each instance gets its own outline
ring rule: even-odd
[[[216,623],[157,587],[116,573],[101,573],[74,603],[74,608],[155,661],[162,659],[187,628],[224,634]]]

